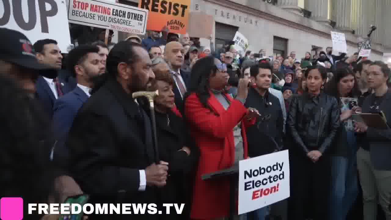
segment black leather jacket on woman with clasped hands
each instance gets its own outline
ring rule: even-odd
[[[315,97],[308,93],[294,97],[287,119],[287,131],[295,142],[292,150],[305,154],[319,150],[323,154],[338,131],[340,114],[337,99],[323,92]]]

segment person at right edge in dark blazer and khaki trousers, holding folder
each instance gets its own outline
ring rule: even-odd
[[[374,93],[369,95],[363,105],[363,113],[384,113],[386,121],[391,121],[391,92],[387,86],[391,70],[382,61],[375,61],[369,65],[367,72],[368,87]],[[386,219],[391,219],[391,129],[379,129],[355,122],[357,143],[360,146],[357,152],[357,168],[363,193],[364,220],[375,219],[377,203],[380,203]]]

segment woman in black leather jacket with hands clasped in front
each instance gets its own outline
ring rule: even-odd
[[[292,99],[287,119],[291,139],[291,201],[289,219],[328,219],[330,153],[340,124],[337,99],[321,91],[326,82],[324,67],[305,72],[308,92]]]

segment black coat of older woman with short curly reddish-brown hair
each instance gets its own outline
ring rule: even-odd
[[[181,117],[169,112],[156,112],[156,133],[160,160],[169,163],[167,185],[159,189],[161,203],[185,203],[185,212],[181,216],[175,213],[163,215],[160,219],[188,219],[190,213],[191,171],[196,167],[197,149],[191,141],[188,130]],[[167,123],[169,118],[169,125]],[[190,148],[190,156],[181,149]],[[174,210],[172,210],[174,211]]]

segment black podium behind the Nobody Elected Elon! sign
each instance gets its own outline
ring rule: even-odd
[[[229,220],[233,220],[233,216],[235,216],[236,210],[236,186],[239,181],[239,163],[235,163],[231,168],[225,170],[219,170],[217,172],[208,173],[201,177],[202,180],[217,180],[221,177],[228,177],[230,179],[230,216]]]

